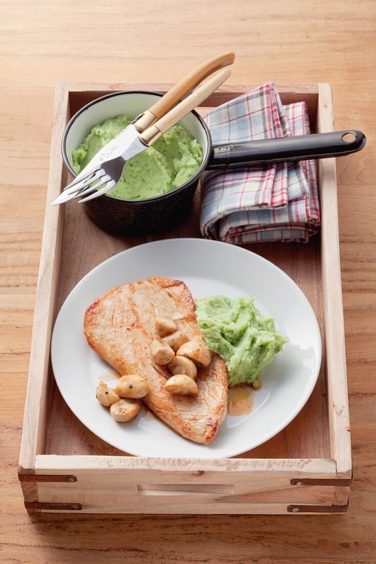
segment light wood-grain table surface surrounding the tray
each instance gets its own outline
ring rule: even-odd
[[[376,81],[374,0],[0,2],[1,562],[375,562]],[[28,515],[17,480],[54,85],[174,82],[236,52],[231,82],[329,82],[337,129],[353,444],[344,515]],[[373,556],[372,556],[373,554]]]

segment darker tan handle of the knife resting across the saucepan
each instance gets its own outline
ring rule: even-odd
[[[166,92],[151,108],[145,111],[142,116],[135,122],[138,131],[144,131],[149,125],[152,125],[158,118],[161,118],[168,112],[175,104],[182,100],[192,92],[200,82],[205,80],[210,74],[222,67],[232,65],[235,61],[235,54],[233,52],[223,53],[217,55],[212,59],[205,61],[198,65],[187,76],[182,78],[171,90]]]

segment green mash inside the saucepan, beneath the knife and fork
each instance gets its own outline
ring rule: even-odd
[[[72,151],[78,174],[92,157],[121,133],[130,120],[121,115],[92,127],[78,149]],[[183,125],[172,126],[152,147],[131,158],[109,194],[125,200],[143,200],[170,192],[187,182],[200,168],[202,149]]]

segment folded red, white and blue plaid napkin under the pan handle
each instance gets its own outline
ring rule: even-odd
[[[204,117],[214,144],[309,133],[305,102],[283,106],[273,82]],[[304,241],[320,224],[316,161],[207,172],[202,235],[227,243]]]

